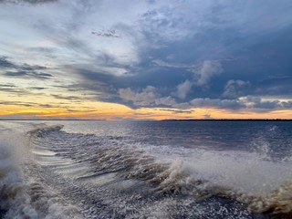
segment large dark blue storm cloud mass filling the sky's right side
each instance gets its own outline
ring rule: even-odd
[[[260,37],[255,38],[254,41],[240,39],[239,45],[242,45],[241,47],[233,45],[228,48],[230,57],[221,59],[217,57],[218,61],[215,60],[214,62],[220,63],[220,65],[214,65],[217,67],[217,71],[209,71],[203,68],[205,61],[200,62],[200,59],[196,59],[194,54],[207,57],[205,51],[192,52],[192,49],[196,49],[196,45],[192,45],[193,39],[190,39],[190,42],[176,42],[176,46],[169,44],[159,50],[149,50],[151,59],[144,58],[139,66],[129,68],[128,70],[133,73],[130,77],[120,78],[104,72],[81,69],[78,74],[84,78],[85,83],[82,86],[85,89],[101,93],[101,99],[102,97],[107,97],[107,101],[120,102],[133,109],[158,106],[173,108],[212,107],[228,110],[247,109],[247,105],[237,98],[253,95],[281,96],[292,94],[290,71],[292,60],[287,60],[292,57],[292,47],[286,40],[289,33],[292,33],[291,29],[266,35],[265,42],[261,41]],[[202,44],[205,42],[203,45],[207,48],[206,51],[209,51],[208,40],[202,39]],[[271,47],[271,45],[281,46]],[[212,54],[211,47],[209,52]],[[269,57],[261,56],[256,51],[258,47],[261,47],[264,54],[268,52],[267,48],[269,47],[274,51],[274,55],[271,53],[272,55]],[[288,49],[283,51],[281,47],[287,47]],[[186,54],[185,51],[190,51],[190,49],[191,52]],[[155,61],[162,60],[159,59],[160,57],[170,57],[170,59],[160,62]],[[213,54],[211,57],[216,56]],[[179,63],[178,60],[180,59],[184,61]],[[185,61],[192,59],[194,60],[192,62]],[[283,61],[283,59],[286,60]],[[213,65],[206,66],[212,67]],[[220,75],[217,75],[218,72]],[[281,73],[279,74],[279,72]],[[193,85],[189,86],[189,88],[185,87],[189,89],[185,94],[181,89],[181,97],[185,97],[183,100],[178,99],[178,96],[174,95],[177,92],[176,87],[187,80]],[[153,99],[147,99],[147,95],[151,94],[141,91],[147,86],[152,86],[156,89],[152,96]],[[123,96],[121,96],[120,90],[128,93],[125,94],[123,92]],[[127,98],[125,99],[125,97]],[[266,110],[288,109],[290,107],[289,103],[282,104],[276,100],[255,100],[252,106],[255,109]]]

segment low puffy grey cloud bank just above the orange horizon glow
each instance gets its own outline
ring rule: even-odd
[[[249,83],[241,80],[233,80],[227,83],[227,88],[233,85],[248,86]],[[119,89],[118,94],[122,103],[134,107],[167,107],[173,109],[214,108],[225,110],[283,110],[292,107],[292,101],[267,100],[259,97],[247,96],[235,99],[211,99],[195,98],[190,101],[178,102],[172,96],[163,97],[153,86],[147,86],[140,91],[130,88]],[[132,105],[131,105],[132,104]]]

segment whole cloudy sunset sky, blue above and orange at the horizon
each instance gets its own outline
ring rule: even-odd
[[[290,0],[0,0],[0,119],[292,119]]]

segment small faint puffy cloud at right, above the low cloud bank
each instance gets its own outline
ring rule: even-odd
[[[245,95],[246,89],[251,86],[249,81],[228,80],[224,87],[224,98],[235,99]]]

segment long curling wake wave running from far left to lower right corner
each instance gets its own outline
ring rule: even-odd
[[[61,128],[46,127],[31,133],[36,146],[54,151],[52,156],[88,163],[90,171],[78,172],[79,182],[116,190],[139,187],[140,193],[144,186],[158,198],[174,195],[192,197],[196,202],[222,197],[246,203],[253,214],[292,214],[291,162],[245,151],[193,150],[187,157],[172,156],[171,152],[165,156],[163,151],[160,156],[159,152],[153,154],[157,147],[147,148],[120,137],[60,132]],[[135,183],[140,184],[135,187]]]

